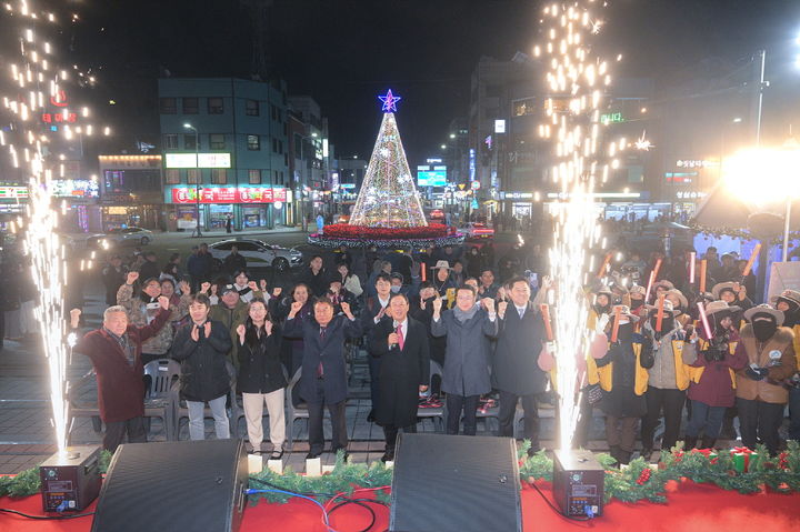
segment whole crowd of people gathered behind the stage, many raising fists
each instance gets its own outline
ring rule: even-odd
[[[104,445],[113,450],[126,433],[129,441],[144,438],[142,369],[171,358],[181,364],[191,439],[204,438],[206,404],[217,438],[230,436],[226,402],[236,382],[253,452],[261,452],[266,404],[270,458],[282,456],[287,399],[308,406],[309,458],[323,452],[326,408],[330,449],[347,452],[348,362],[362,349],[368,421],[383,429],[384,461],[393,459],[399,431],[416,430],[420,404],[437,401],[446,405],[449,434],[476,434],[477,412],[497,405],[502,436],[514,435],[521,403],[534,453],[540,404],[567,392],[556,389],[553,328],[544,322],[556,314],[542,312],[542,303],[557,300],[549,294],[558,277],[547,275],[541,245],[520,242],[494,255],[491,242],[386,253],[342,247],[310,257],[291,285],[253,279],[236,248],[216,267],[201,244],[186,272],[177,254],[163,268],[148,253],[129,265],[112,257],[103,270],[110,305],[103,325],[76,347],[98,373]],[[679,440],[713,448],[733,436],[738,416],[742,444],[763,442],[774,453],[790,403],[790,438],[800,438],[800,293],[787,290],[757,305],[737,257],[709,249],[703,283],[690,278],[690,257],[626,253],[586,287],[581,327],[591,344],[578,364],[576,445],[587,446],[594,409],[606,414],[619,463],[630,461],[637,436],[641,455],[652,456],[661,419],[662,450]],[[73,313],[73,327],[79,318]],[[441,368],[440,380],[431,368]],[[292,381],[296,397],[286,398]]]

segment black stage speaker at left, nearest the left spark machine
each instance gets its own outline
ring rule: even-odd
[[[121,445],[100,491],[92,532],[234,532],[247,496],[241,440]]]

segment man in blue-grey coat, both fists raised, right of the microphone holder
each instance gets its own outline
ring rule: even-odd
[[[476,433],[476,410],[482,393],[491,391],[489,339],[498,333],[494,300],[476,304],[476,289],[463,285],[456,292],[456,307],[441,312],[442,300],[433,300],[431,334],[447,335],[441,390],[447,393],[447,433],[458,434],[461,411],[464,434]]]

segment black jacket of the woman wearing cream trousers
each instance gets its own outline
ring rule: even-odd
[[[239,342],[239,338],[237,338]],[[243,393],[270,393],[286,388],[287,380],[280,359],[281,330],[272,325],[272,333],[261,335],[253,344],[239,344],[239,380],[237,389]]]

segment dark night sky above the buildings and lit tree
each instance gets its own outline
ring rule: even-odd
[[[158,132],[156,79],[164,70],[173,77],[250,72],[250,17],[239,1],[60,3],[81,16],[63,37],[70,59],[98,72],[93,107],[126,135]],[[320,103],[339,155],[369,155],[380,123],[376,97],[391,88],[403,98],[398,122],[413,165],[446,141],[453,118],[467,116],[470,74],[481,54],[508,60],[532,49],[541,6],[274,0],[270,60],[290,94],[311,94]],[[653,78],[661,94],[680,81],[742,67],[767,47],[767,127],[771,117],[782,131],[786,122],[800,126],[797,0],[618,0],[606,19],[601,46],[626,57],[616,76]]]

